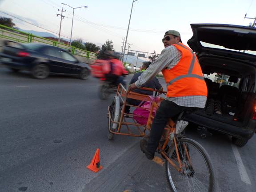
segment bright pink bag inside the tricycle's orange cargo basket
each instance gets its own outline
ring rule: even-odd
[[[136,108],[133,111],[134,115],[139,115],[139,116],[133,116],[133,119],[136,120],[136,122],[138,124],[141,124],[141,125],[146,125],[147,124],[150,108],[151,108],[151,105],[152,105],[152,101],[159,101],[160,100],[159,96],[157,96],[157,97],[149,96],[149,98],[150,98],[151,101],[146,101],[144,104],[143,104],[144,101],[141,101],[141,103],[138,105],[139,107],[144,107],[146,109]],[[153,108],[152,116],[155,116],[155,114],[156,114],[156,108]]]

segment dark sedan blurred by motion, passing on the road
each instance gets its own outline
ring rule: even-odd
[[[36,79],[45,79],[50,73],[77,75],[88,79],[90,67],[62,48],[47,44],[20,44],[4,41],[0,63],[13,72],[30,71]]]

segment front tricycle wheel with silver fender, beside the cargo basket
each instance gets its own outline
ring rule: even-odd
[[[109,116],[111,116],[111,119],[115,122],[119,122],[120,120],[120,99],[118,96],[114,97],[114,100],[112,101],[112,104],[109,107],[109,111],[110,114]],[[118,128],[118,124],[117,123],[112,123],[110,118],[108,118],[108,139],[112,140],[114,134],[109,132],[109,129],[113,132],[116,132]]]

